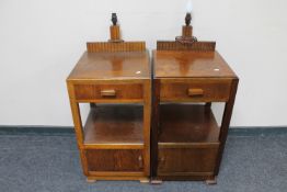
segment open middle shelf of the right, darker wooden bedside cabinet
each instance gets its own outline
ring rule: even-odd
[[[210,108],[160,104],[159,143],[218,143],[219,127]]]

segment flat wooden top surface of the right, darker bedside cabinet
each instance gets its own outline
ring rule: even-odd
[[[154,78],[236,78],[217,52],[153,50]]]

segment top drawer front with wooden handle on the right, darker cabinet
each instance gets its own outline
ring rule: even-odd
[[[231,83],[228,80],[190,80],[188,82],[163,82],[161,101],[228,101]]]

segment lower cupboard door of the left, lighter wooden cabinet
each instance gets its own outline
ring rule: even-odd
[[[90,149],[85,155],[89,171],[144,171],[142,150]]]

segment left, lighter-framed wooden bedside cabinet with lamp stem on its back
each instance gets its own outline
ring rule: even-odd
[[[110,42],[87,47],[67,79],[83,172],[90,182],[148,182],[151,74],[146,44],[123,42],[115,22]],[[91,105],[85,123],[80,103]]]

